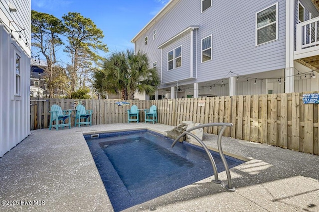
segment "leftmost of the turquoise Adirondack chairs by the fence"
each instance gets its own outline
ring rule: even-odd
[[[71,128],[71,112],[70,110],[62,110],[58,105],[52,105],[50,112],[50,126],[49,130],[52,127],[55,127],[58,130],[59,127],[69,127]],[[65,121],[68,119],[68,122]],[[59,121],[62,121],[62,124],[59,124]],[[55,124],[53,124],[55,122]]]

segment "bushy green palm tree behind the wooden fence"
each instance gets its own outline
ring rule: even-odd
[[[121,92],[122,99],[133,100],[135,91],[152,95],[160,85],[156,69],[149,68],[145,53],[133,51],[113,53],[103,63],[102,69],[93,75],[94,89],[97,93]]]

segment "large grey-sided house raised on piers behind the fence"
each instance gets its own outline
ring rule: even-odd
[[[170,0],[132,39],[156,97],[319,90],[318,0]]]

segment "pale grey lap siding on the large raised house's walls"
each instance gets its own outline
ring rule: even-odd
[[[167,49],[162,51],[162,61],[157,47],[191,25],[198,25],[193,62],[193,76],[197,79],[189,83],[201,82],[225,77],[229,71],[239,75],[255,72],[285,69],[285,0],[256,1],[223,1],[214,0],[212,6],[200,12],[200,1],[180,0],[166,12],[137,41],[137,49],[147,50],[152,61],[162,64],[162,82],[177,81],[185,75],[174,75],[167,71]],[[255,13],[278,2],[279,39],[264,45],[255,46]],[[239,9],[240,8],[240,9]],[[153,30],[157,28],[158,38],[153,39]],[[194,30],[195,34],[196,30]],[[144,38],[149,36],[149,43],[154,46],[145,47]],[[201,39],[212,35],[212,60],[201,63]],[[179,39],[174,42],[174,48]],[[184,53],[185,48],[183,48]],[[156,55],[156,56],[153,56]],[[185,62],[183,54],[183,64]],[[156,58],[155,58],[156,57]],[[189,68],[189,67],[188,67]],[[196,72],[197,71],[197,72]],[[177,72],[176,72],[177,73]],[[178,74],[178,73],[177,73]]]

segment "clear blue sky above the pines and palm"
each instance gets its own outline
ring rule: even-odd
[[[62,19],[68,12],[90,18],[109,53],[134,49],[131,40],[169,0],[31,0],[31,9]],[[63,53],[61,57],[63,57]],[[106,54],[104,57],[107,57]],[[40,57],[41,58],[41,57]]]

